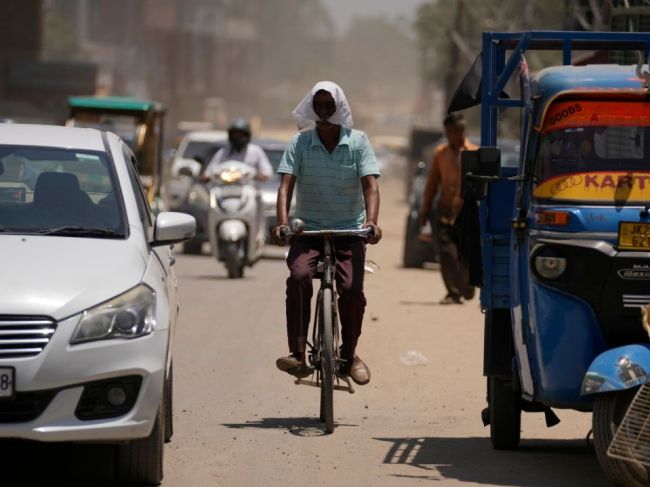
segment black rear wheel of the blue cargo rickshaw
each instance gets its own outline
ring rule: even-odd
[[[495,450],[514,450],[521,439],[521,406],[513,382],[488,377],[490,441]]]

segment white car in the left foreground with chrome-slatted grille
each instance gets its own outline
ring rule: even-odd
[[[0,126],[0,438],[116,444],[118,477],[162,479],[178,315],[170,245],[136,160],[95,129]]]

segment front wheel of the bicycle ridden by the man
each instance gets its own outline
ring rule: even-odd
[[[320,419],[325,422],[325,431],[334,431],[334,377],[336,367],[334,355],[334,314],[332,313],[332,290],[323,289],[318,313],[318,336],[320,337]]]

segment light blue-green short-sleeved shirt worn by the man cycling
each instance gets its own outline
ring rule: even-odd
[[[361,228],[366,218],[361,179],[379,177],[368,136],[341,127],[339,143],[330,154],[316,129],[296,134],[284,151],[280,174],[296,180],[296,217],[306,230]]]

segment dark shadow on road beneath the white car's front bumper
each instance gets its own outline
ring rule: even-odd
[[[2,487],[117,486],[110,445],[0,441]]]

